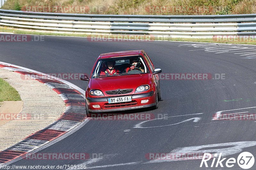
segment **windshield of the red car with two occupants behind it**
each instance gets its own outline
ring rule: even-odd
[[[129,56],[98,60],[92,78],[148,73],[143,57]]]

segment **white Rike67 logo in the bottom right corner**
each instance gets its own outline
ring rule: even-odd
[[[249,169],[254,165],[254,156],[250,153],[250,152],[242,152],[238,155],[237,159],[235,158],[222,158],[221,157],[222,153],[218,154],[215,153],[212,159],[212,162],[209,161],[212,158],[212,154],[210,153],[204,153],[203,159],[201,161],[200,167],[203,167],[203,165],[205,167],[208,167],[207,163],[211,163],[209,166],[210,167],[224,167],[223,165],[225,165],[226,167],[230,168],[233,167],[236,163],[238,164],[238,166],[240,166],[243,169]],[[215,160],[218,157],[216,163]],[[227,159],[227,160],[226,160]],[[209,161],[209,162],[207,162]],[[226,163],[225,163],[226,162]],[[214,166],[215,165],[215,166]]]

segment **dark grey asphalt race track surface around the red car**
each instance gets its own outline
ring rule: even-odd
[[[45,36],[39,42],[0,42],[0,61],[43,73],[86,73],[101,53],[143,49],[161,68],[162,100],[155,119],[90,120],[81,129],[39,153],[89,153],[89,160],[21,159],[15,165],[86,165],[86,169],[199,168],[200,159],[149,159],[149,153],[256,155],[256,120],[213,120],[215,113],[256,113],[256,46],[165,41],[92,42]],[[169,73],[209,73],[210,80],[168,80]],[[215,74],[225,77],[215,79]],[[68,80],[85,90],[81,80]],[[223,112],[220,112],[223,111]],[[141,123],[143,122],[143,123]],[[140,124],[139,124],[140,123]],[[145,128],[147,127],[147,128]],[[228,143],[228,144],[226,144]],[[206,146],[204,146],[206,145]],[[198,147],[193,147],[198,146]],[[217,160],[217,159],[216,159]],[[216,162],[216,161],[215,161]],[[225,164],[226,160],[224,161]],[[208,161],[211,166],[212,161]],[[215,164],[214,164],[215,166]],[[232,168],[239,169],[235,164]],[[255,169],[254,165],[252,169]]]

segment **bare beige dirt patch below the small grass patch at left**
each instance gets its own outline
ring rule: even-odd
[[[4,101],[0,106],[0,126],[2,126],[17,117],[22,111],[23,101]]]

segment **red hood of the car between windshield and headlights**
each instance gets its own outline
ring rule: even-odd
[[[133,74],[91,79],[91,89],[98,89],[105,93],[108,90],[135,89],[148,83],[149,74]],[[133,91],[133,93],[134,93]]]

